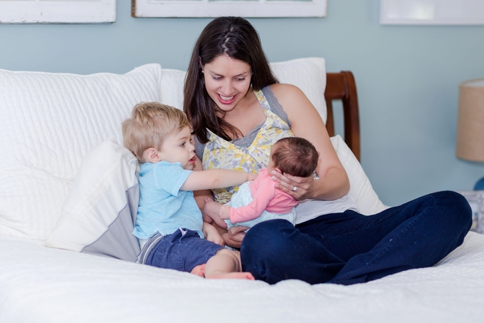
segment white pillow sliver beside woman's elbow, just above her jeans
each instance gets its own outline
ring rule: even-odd
[[[332,137],[331,143],[348,174],[349,195],[357,202],[359,212],[364,215],[372,215],[385,210],[387,206],[379,200],[372,184],[369,183],[367,174],[364,173],[362,165],[341,136],[335,135],[335,137]]]

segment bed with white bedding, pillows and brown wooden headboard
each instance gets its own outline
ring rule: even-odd
[[[332,137],[364,214],[386,207],[359,164],[354,76],[323,58],[273,63],[300,86]],[[0,70],[0,322],[483,322],[484,235],[438,265],[365,284],[205,280],[134,262],[135,163],[120,121],[139,101],[181,106],[184,71]],[[112,158],[112,159],[111,159]],[[97,163],[108,164],[102,172]],[[111,167],[112,166],[112,167]]]

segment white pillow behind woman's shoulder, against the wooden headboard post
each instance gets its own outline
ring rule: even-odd
[[[326,65],[325,58],[298,58],[292,61],[270,63],[280,83],[298,86],[305,93],[322,121],[326,124],[327,110],[325,101]]]

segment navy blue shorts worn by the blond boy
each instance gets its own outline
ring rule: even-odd
[[[206,263],[221,249],[221,245],[202,239],[195,231],[180,228],[162,237],[149,250],[144,264],[191,272],[195,266]]]

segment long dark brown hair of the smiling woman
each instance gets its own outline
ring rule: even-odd
[[[206,143],[207,128],[225,140],[236,138],[240,131],[216,116],[218,107],[205,88],[201,66],[215,58],[227,55],[251,66],[252,88],[256,91],[278,83],[256,29],[241,17],[219,17],[211,21],[201,32],[191,53],[184,86],[183,110],[191,122],[193,133],[201,143]]]

